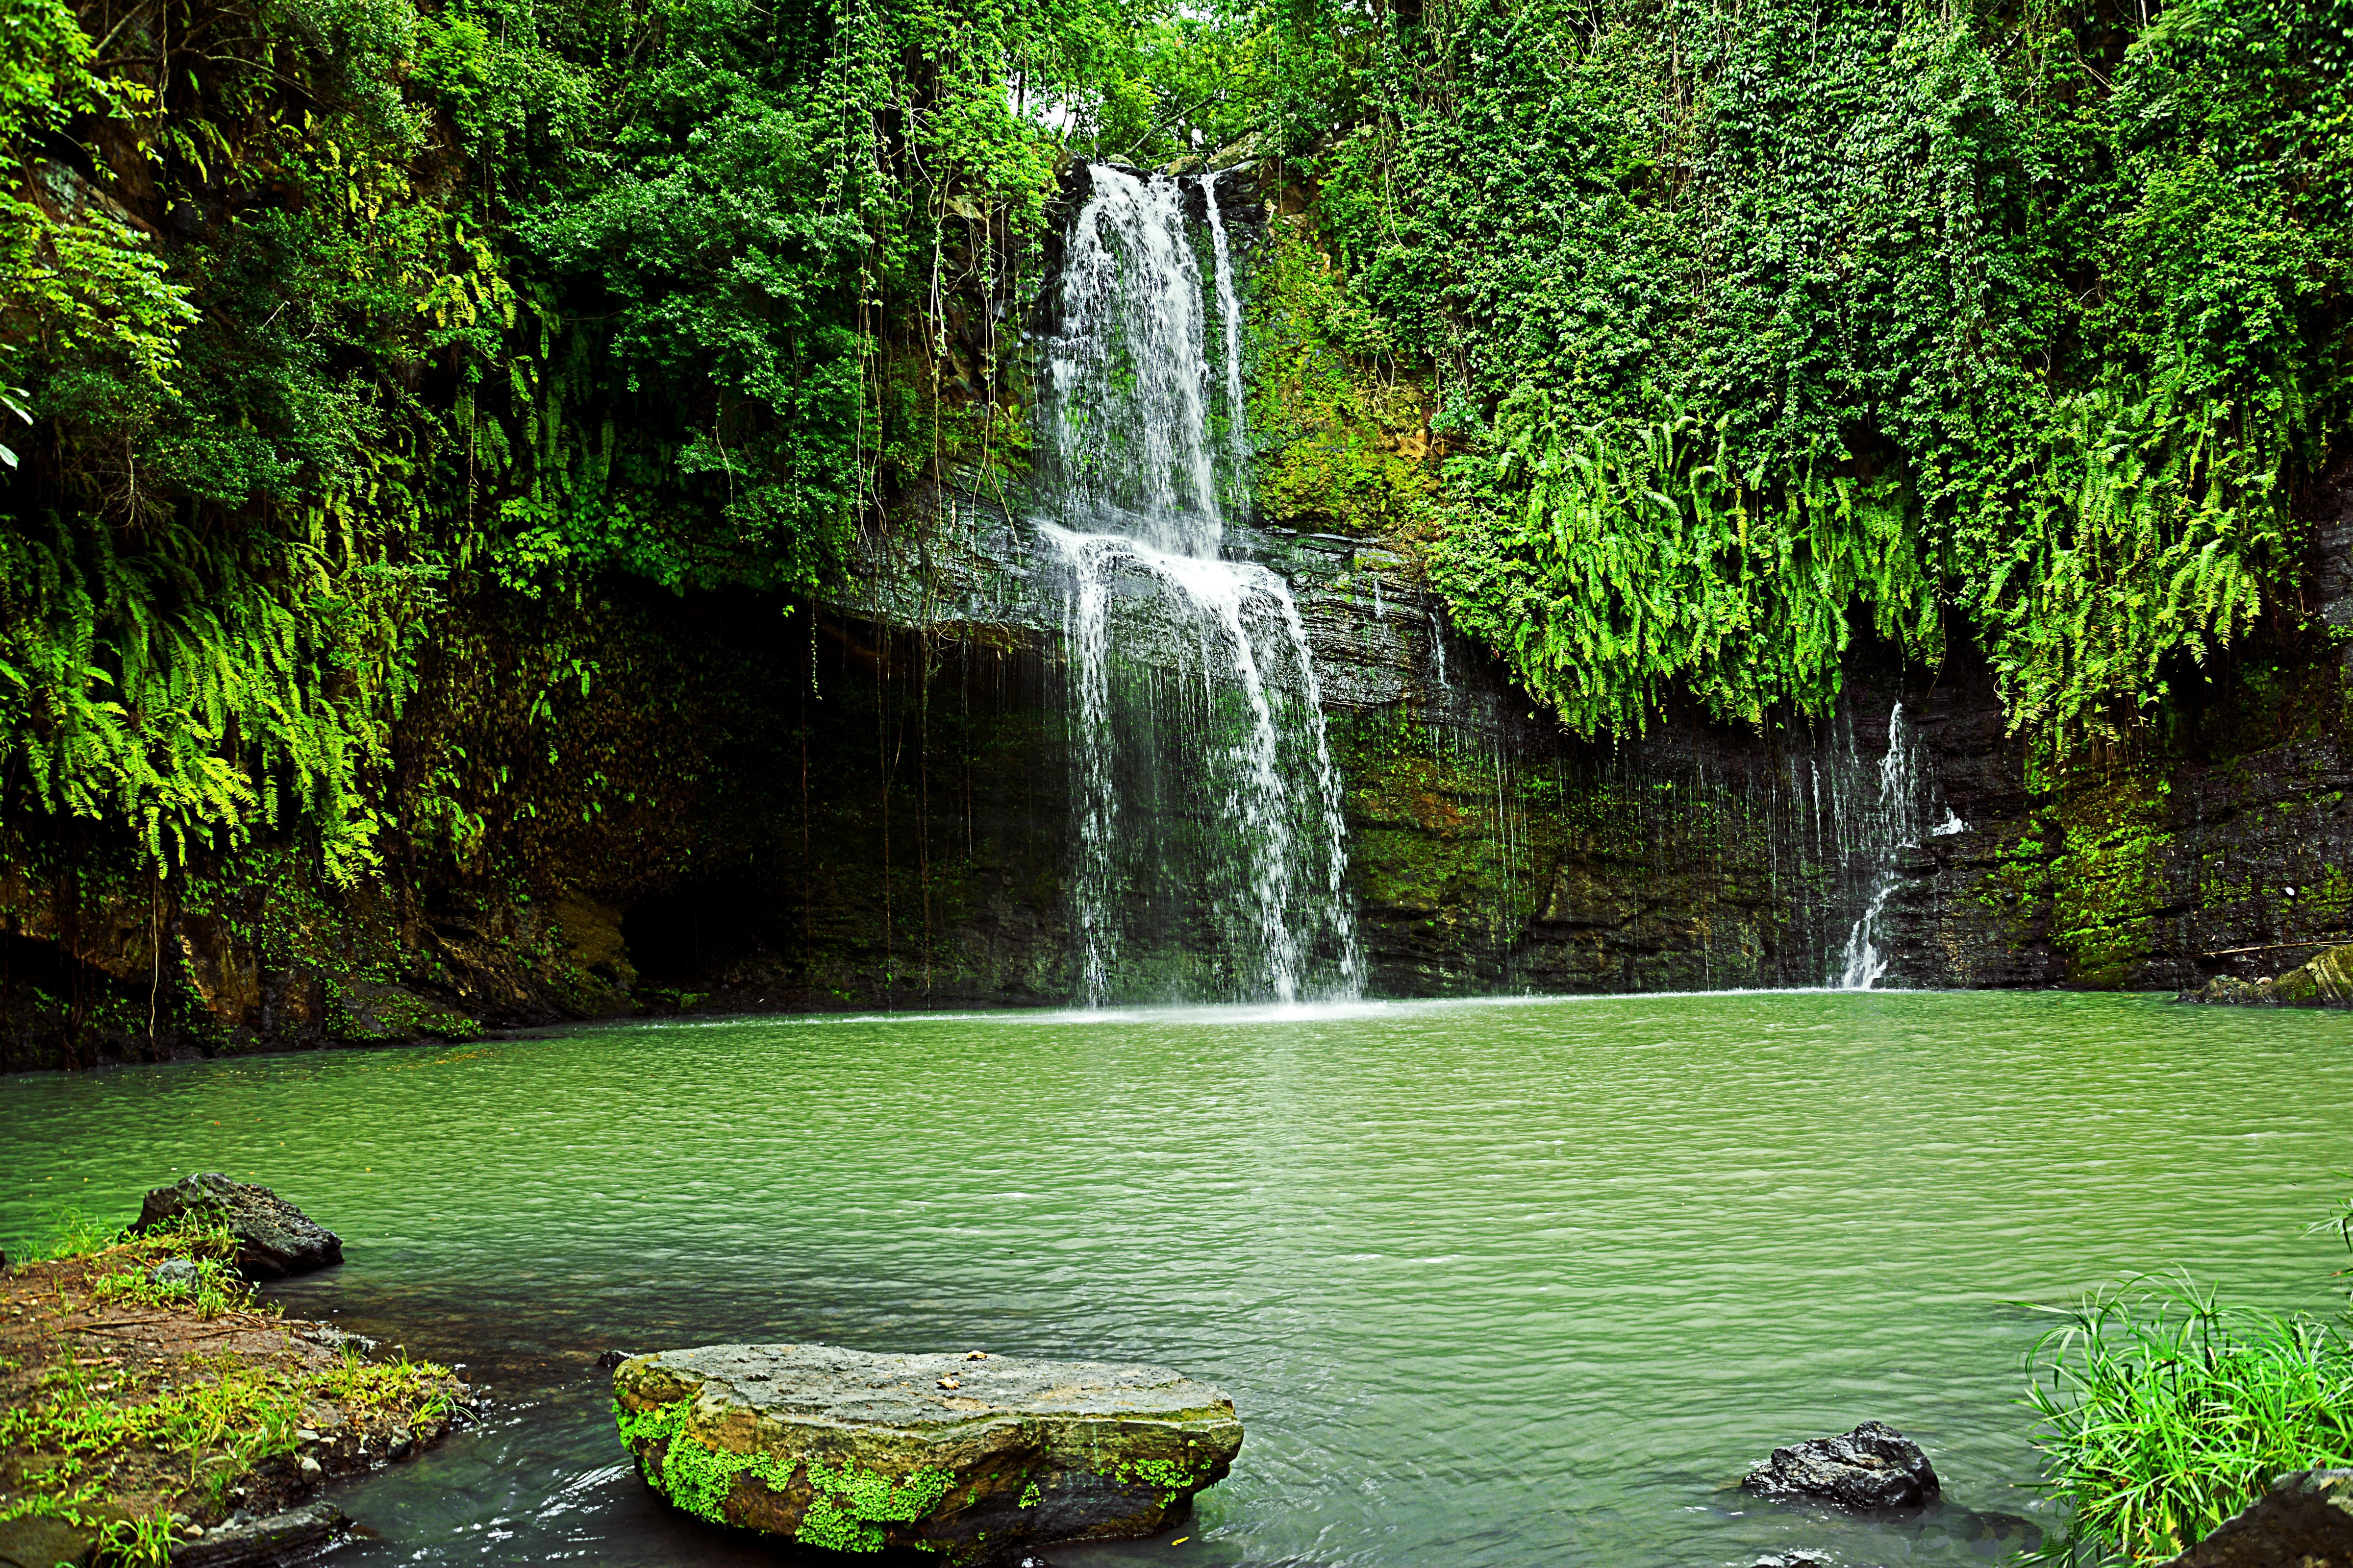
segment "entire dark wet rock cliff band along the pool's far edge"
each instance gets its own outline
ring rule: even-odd
[[[1247,294],[1268,219],[1228,226]],[[1428,454],[1417,421],[1318,440],[1395,468]],[[1313,515],[1322,473],[1287,470],[1228,548],[1289,581],[1313,646],[1372,994],[2198,990],[2353,940],[2344,465],[2297,498],[2306,625],[2177,672],[2129,748],[2068,757],[2005,731],[1965,646],[1920,670],[1859,644],[1812,722],[1668,712],[1579,741],[1447,625],[1409,545]],[[405,717],[440,750],[391,764],[471,769],[454,856],[395,835],[379,877],[327,886],[313,846],[273,839],[158,882],[73,823],[0,825],[0,1070],[1071,999],[1052,552],[998,489],[906,510],[814,609],[614,590],[482,611],[475,668]]]

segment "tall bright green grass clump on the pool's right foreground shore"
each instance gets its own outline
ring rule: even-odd
[[[2040,1488],[2068,1528],[2033,1561],[2158,1563],[2273,1476],[2353,1465],[2344,1324],[2228,1312],[2188,1279],[2087,1295],[2031,1354]]]

